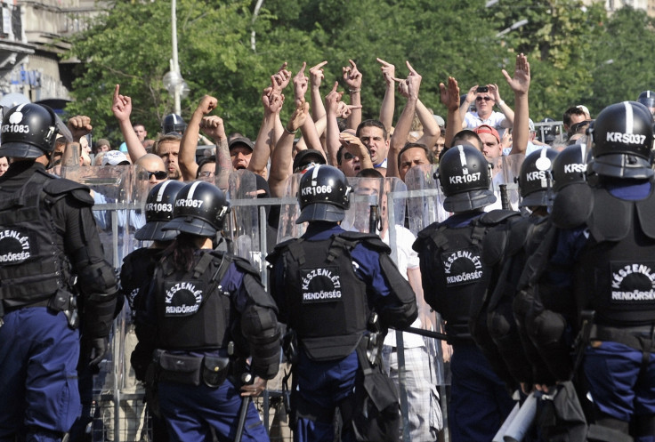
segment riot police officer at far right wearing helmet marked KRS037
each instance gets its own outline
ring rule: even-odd
[[[593,326],[586,330],[588,339],[580,334],[585,344],[582,368],[594,408],[594,416],[589,417],[604,429],[594,440],[631,440],[629,434],[636,441],[652,441],[651,112],[635,101],[612,104],[598,115],[590,132],[590,169],[598,176],[583,197],[562,192],[555,197],[562,211],[552,216],[560,229],[551,261],[560,269],[572,269],[574,320],[581,323],[583,317],[591,317],[587,312],[594,312]],[[577,220],[577,225],[571,225],[571,220]]]

